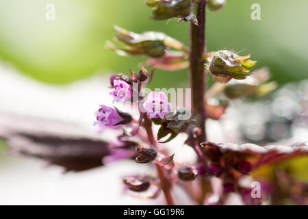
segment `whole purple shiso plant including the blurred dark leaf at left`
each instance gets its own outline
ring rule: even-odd
[[[120,133],[114,136],[116,142],[36,136],[34,132],[12,130],[5,132],[4,140],[18,153],[47,159],[50,164],[64,166],[66,171],[88,170],[120,159],[151,165],[156,175],[126,176],[123,185],[136,196],[157,198],[163,194],[167,205],[180,203],[175,199],[175,185],[198,205],[224,205],[231,194],[237,194],[246,205],[277,205],[285,200],[307,205],[307,183],[277,165],[287,159],[307,156],[307,142],[257,145],[207,140],[211,130],[206,129],[206,120],[219,120],[229,101],[264,96],[277,88],[275,82],[268,81],[268,68],[253,71],[257,62],[251,60],[251,55],[239,55],[226,49],[207,51],[206,8],[218,11],[225,1],[146,0],[146,5],[153,9],[152,17],[156,20],[177,18],[178,25],[189,22],[190,46],[164,33],[136,34],[115,27],[116,42],[107,42],[107,48],[118,55],[148,57],[139,73],[130,70],[129,75],[118,73],[110,77],[113,102],[135,106],[138,111],[101,105],[95,114],[95,127],[108,134],[114,130]],[[149,71],[145,68],[148,66],[151,66]],[[142,88],[155,77],[155,68],[167,71],[189,68],[190,109],[172,106],[164,92],[142,94]],[[209,89],[208,77],[216,81]],[[183,116],[188,111],[190,116]],[[243,112],[243,116],[245,114],[249,112]],[[52,127],[49,125],[49,129]],[[177,163],[174,159],[177,152],[166,150],[168,142],[176,141],[179,133],[186,136],[183,145],[190,146],[196,153],[194,164]],[[59,135],[63,135],[63,131]]]

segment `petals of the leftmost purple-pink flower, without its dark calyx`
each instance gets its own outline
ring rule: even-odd
[[[105,105],[101,105],[95,116],[97,116],[97,121],[94,122],[94,125],[114,126],[124,120],[118,113],[118,110]]]

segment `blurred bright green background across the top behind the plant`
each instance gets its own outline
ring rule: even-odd
[[[55,21],[47,21],[47,3]],[[261,21],[251,20],[251,5],[261,5]],[[279,83],[307,78],[307,0],[227,0],[207,13],[209,51],[251,53],[257,68],[269,66]],[[131,31],[164,31],[188,44],[188,23],[153,21],[143,0],[0,0],[0,59],[46,83],[68,83],[97,73],[138,70],[145,57],[119,57],[104,48],[114,25]],[[157,70],[153,87],[185,86],[187,70]],[[1,76],[0,76],[1,79]],[[212,79],[209,79],[212,81]]]

